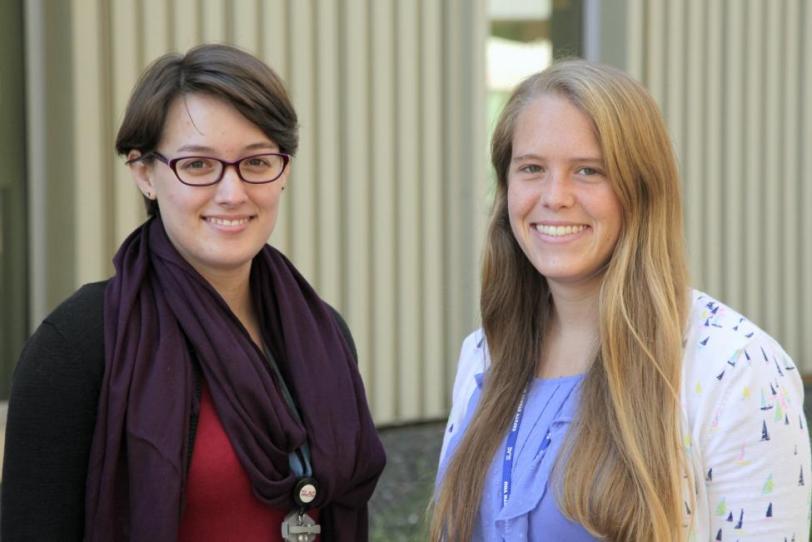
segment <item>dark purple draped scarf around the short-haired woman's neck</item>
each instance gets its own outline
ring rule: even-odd
[[[250,284],[264,339],[304,426],[245,328],[178,254],[160,219],[133,232],[113,261],[86,540],[177,539],[189,422],[199,408],[190,349],[254,494],[295,507],[288,454],[307,438],[322,540],[367,540],[367,501],[383,470],[383,447],[338,324],[293,265],[266,245],[252,262]]]

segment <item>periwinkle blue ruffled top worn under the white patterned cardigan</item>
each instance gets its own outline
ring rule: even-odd
[[[567,540],[595,541],[583,527],[566,519],[548,488],[550,471],[572,421],[583,375],[535,379],[528,388],[526,404],[516,430],[510,468],[510,497],[502,506],[506,481],[505,446],[508,434],[496,450],[485,478],[485,489],[474,530],[475,541]],[[482,391],[482,374],[462,424],[452,428],[448,449],[440,462],[438,481],[471,422]]]

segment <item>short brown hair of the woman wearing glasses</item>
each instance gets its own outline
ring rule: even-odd
[[[256,124],[279,146],[296,154],[299,126],[296,111],[279,76],[258,58],[228,45],[207,44],[185,55],[168,53],[153,62],[133,89],[116,136],[116,151],[146,155],[161,140],[169,106],[191,93],[219,98]],[[149,157],[145,157],[149,159]],[[157,202],[144,198],[147,213]]]

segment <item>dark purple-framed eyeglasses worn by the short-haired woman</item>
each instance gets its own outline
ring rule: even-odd
[[[228,162],[211,156],[180,156],[170,160],[163,154],[152,151],[127,163],[149,156],[154,156],[159,162],[169,166],[175,177],[189,186],[211,186],[219,183],[228,166],[234,166],[237,175],[243,182],[249,184],[272,183],[282,176],[290,162],[289,154],[279,152],[254,154]]]

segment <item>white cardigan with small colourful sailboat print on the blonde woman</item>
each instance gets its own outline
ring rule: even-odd
[[[488,365],[482,330],[466,338],[441,457],[474,376]],[[693,467],[688,540],[806,542],[812,459],[803,383],[781,346],[733,309],[693,292],[683,357],[683,433]],[[640,413],[640,415],[656,415]]]

